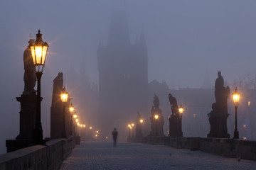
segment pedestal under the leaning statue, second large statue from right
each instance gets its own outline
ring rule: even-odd
[[[180,115],[171,115],[171,118],[169,118],[169,136],[183,137]]]

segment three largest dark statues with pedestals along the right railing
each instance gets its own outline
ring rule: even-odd
[[[178,103],[174,96],[169,96],[171,106],[171,116],[169,118],[169,136],[182,137],[183,132],[181,128],[182,116],[178,111]],[[208,137],[224,137],[229,138],[227,128],[228,118],[228,98],[230,96],[229,86],[224,86],[224,79],[221,72],[218,72],[218,78],[215,80],[215,103],[212,105],[212,111],[208,113],[210,123],[210,133]],[[151,132],[150,136],[163,136],[164,118],[159,108],[159,98],[154,96],[154,106],[151,108]],[[157,115],[155,117],[155,115]]]

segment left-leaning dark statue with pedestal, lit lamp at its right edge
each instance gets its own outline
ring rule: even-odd
[[[181,130],[181,115],[178,112],[178,103],[174,96],[168,94],[169,102],[171,105],[171,116],[169,118],[169,136],[182,137],[183,132]]]

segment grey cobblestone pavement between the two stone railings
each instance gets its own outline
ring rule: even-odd
[[[82,142],[65,159],[70,169],[256,169],[256,162],[221,157],[200,151],[138,143]]]

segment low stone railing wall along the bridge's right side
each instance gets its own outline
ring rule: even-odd
[[[169,145],[179,149],[201,150],[225,157],[256,160],[256,141],[202,137],[130,137],[128,142]]]

